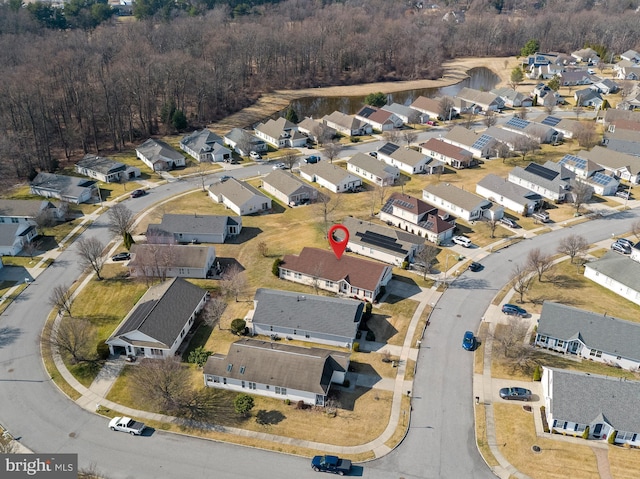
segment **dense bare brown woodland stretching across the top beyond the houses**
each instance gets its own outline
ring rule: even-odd
[[[447,58],[514,55],[532,38],[542,51],[640,46],[640,16],[620,8],[637,2],[519,2],[526,15],[495,3],[471,2],[463,23],[400,0],[288,0],[64,31],[0,5],[0,175],[131,146],[173,128],[167,111],[202,126],[271,89],[437,78]]]

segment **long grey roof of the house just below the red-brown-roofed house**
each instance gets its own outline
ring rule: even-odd
[[[353,299],[259,288],[252,322],[349,337],[362,318],[364,303]]]

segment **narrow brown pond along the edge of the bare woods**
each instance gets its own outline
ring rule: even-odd
[[[454,96],[462,88],[469,87],[477,90],[491,90],[500,81],[500,78],[488,68],[479,67],[469,70],[469,78],[462,80],[455,85],[449,85],[441,88],[421,88],[418,90],[405,90],[387,95],[387,103],[400,103],[402,105],[410,105],[419,96],[438,97],[438,96]],[[353,115],[364,105],[364,96],[348,96],[348,97],[306,97],[294,100],[291,106],[296,110],[300,119],[310,116],[313,118],[322,118],[336,110],[343,113]],[[274,118],[282,116],[274,115]]]

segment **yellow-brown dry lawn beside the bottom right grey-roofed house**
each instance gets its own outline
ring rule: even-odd
[[[498,448],[519,471],[536,479],[599,479],[595,455],[586,441],[583,446],[536,436],[533,414],[540,414],[539,409],[532,414],[521,405],[496,403],[493,410]],[[542,452],[535,454],[533,445]]]

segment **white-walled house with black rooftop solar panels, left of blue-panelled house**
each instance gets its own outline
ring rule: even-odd
[[[575,174],[557,163],[547,163],[544,166],[529,163],[525,168],[516,166],[509,172],[509,181],[551,201],[565,201]]]

